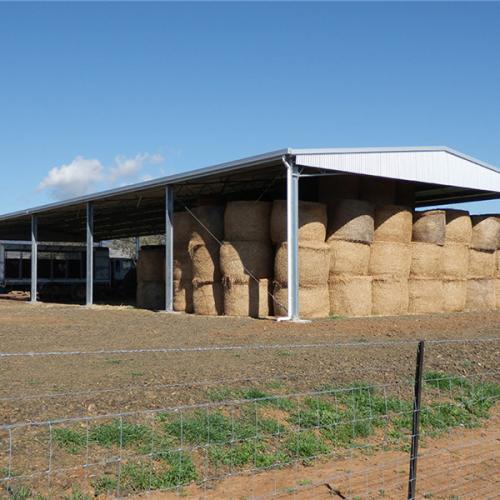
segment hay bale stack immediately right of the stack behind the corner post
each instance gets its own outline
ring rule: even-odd
[[[368,276],[374,206],[340,200],[328,209],[330,314],[368,316],[372,312],[372,278]]]

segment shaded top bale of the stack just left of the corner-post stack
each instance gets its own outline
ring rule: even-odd
[[[224,238],[227,241],[269,241],[271,203],[268,201],[230,201],[224,212]]]

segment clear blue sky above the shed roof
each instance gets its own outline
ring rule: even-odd
[[[288,146],[500,166],[499,25],[500,3],[0,3],[0,213]]]

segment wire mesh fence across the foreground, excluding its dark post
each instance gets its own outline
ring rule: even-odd
[[[493,498],[498,339],[426,344],[416,497]],[[406,498],[417,345],[0,353],[11,380],[0,396],[0,491],[7,498]],[[228,355],[239,356],[239,373],[226,373]],[[121,366],[120,356],[138,363],[156,356],[158,376],[179,357],[182,368],[171,383],[14,390],[23,370],[61,363],[70,377],[80,364]],[[266,373],[252,356],[279,370]],[[213,376],[193,376],[207,373],[205,364]]]

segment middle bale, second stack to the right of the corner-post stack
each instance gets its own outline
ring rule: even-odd
[[[408,278],[411,265],[411,247],[408,243],[374,241],[370,252],[371,276]]]

